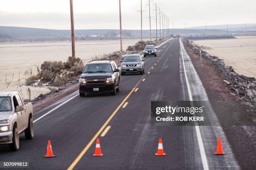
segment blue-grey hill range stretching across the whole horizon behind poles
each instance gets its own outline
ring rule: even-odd
[[[243,34],[244,26],[242,24],[229,25],[229,31],[235,34]],[[238,31],[239,30],[239,31]],[[240,31],[241,30],[241,31]],[[256,24],[248,24],[247,30],[256,30]],[[158,37],[160,32],[158,31]],[[205,30],[204,26],[193,27],[187,29],[169,29],[170,34],[181,34],[181,35],[225,35],[226,25],[209,25]],[[230,32],[231,33],[231,32]],[[253,31],[255,34],[256,31]],[[120,34],[119,29],[97,29],[97,30],[75,30],[75,36],[86,37],[90,35],[101,35],[104,37],[115,37]],[[156,36],[156,30],[151,30],[152,37]],[[141,30],[123,30],[124,37],[140,37]],[[143,36],[149,37],[150,31],[143,30]],[[0,38],[41,38],[41,37],[70,37],[70,30],[53,30],[53,29],[43,29],[43,28],[25,28],[25,27],[8,27],[0,26]]]

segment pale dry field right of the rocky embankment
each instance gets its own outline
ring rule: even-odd
[[[247,77],[256,77],[256,36],[237,36],[228,40],[197,40],[210,55],[223,59],[225,64]]]

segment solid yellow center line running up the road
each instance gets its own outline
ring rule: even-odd
[[[154,64],[153,64],[154,65]],[[152,65],[152,66],[153,66]],[[151,67],[152,67],[151,66]],[[150,67],[150,68],[151,68]],[[148,69],[150,70],[150,69]],[[108,118],[108,120],[102,125],[102,127],[100,128],[100,130],[98,130],[98,132],[94,135],[94,137],[90,140],[90,142],[85,146],[85,148],[82,150],[81,153],[79,153],[79,155],[77,156],[77,158],[74,160],[74,162],[69,166],[69,168],[67,170],[72,170],[77,163],[79,162],[79,160],[81,160],[81,158],[83,157],[83,155],[87,152],[87,150],[91,147],[92,143],[97,139],[97,137],[100,135],[100,133],[102,133],[102,131],[105,129],[105,127],[108,125],[108,123],[110,122],[110,120],[115,116],[115,114],[118,112],[118,110],[120,109],[120,107],[126,102],[126,100],[131,96],[131,94],[134,92],[134,90],[136,89],[136,87],[138,86],[138,84],[145,80],[145,75],[143,75],[143,77],[141,77],[141,79],[137,82],[137,84],[132,88],[132,90],[129,92],[129,94],[124,98],[124,100],[120,103],[120,105],[118,105],[118,107],[115,109],[115,111],[112,113],[112,115],[110,115],[110,117]]]

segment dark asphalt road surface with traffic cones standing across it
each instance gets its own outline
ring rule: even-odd
[[[34,122],[34,139],[21,134],[18,152],[1,145],[0,160],[28,161],[33,170],[240,169],[221,126],[151,125],[151,101],[207,100],[179,38],[160,45],[157,55],[144,57],[146,74],[120,75],[115,96],[79,97],[74,92],[36,113],[34,121],[40,118]],[[225,155],[214,155],[218,136]],[[102,157],[93,156],[96,138]],[[154,155],[159,138],[165,157]],[[48,140],[54,158],[44,158]]]

